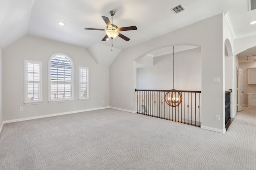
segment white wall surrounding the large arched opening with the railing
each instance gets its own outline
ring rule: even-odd
[[[223,14],[172,31],[165,35],[123,49],[110,65],[110,106],[135,110],[133,61],[161,47],[191,44],[201,46],[202,54],[202,126],[224,131],[224,42]],[[213,83],[213,78],[220,83]],[[182,90],[182,89],[181,89]],[[115,103],[114,103],[115,101]],[[220,115],[220,120],[215,115]],[[202,127],[201,126],[201,127]]]

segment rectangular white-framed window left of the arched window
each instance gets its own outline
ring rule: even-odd
[[[42,62],[24,60],[24,103],[42,103]]]

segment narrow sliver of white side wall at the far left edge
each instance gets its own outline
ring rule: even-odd
[[[3,51],[0,44],[0,132],[2,130],[2,124],[3,124]]]

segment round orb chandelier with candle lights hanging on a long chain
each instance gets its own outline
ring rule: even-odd
[[[182,101],[182,95],[181,92],[177,92],[174,89],[174,46],[173,46],[173,86],[172,86],[172,90],[170,90],[170,92],[167,92],[164,96],[164,101],[166,102],[166,104],[168,104],[169,106],[172,107],[176,107],[179,106],[181,101]]]

